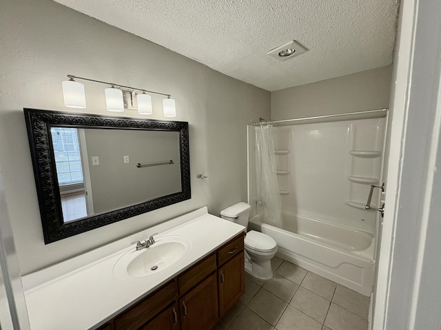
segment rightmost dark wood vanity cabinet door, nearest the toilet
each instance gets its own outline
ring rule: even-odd
[[[219,317],[225,313],[245,293],[245,263],[243,252],[225,263],[218,270]]]

